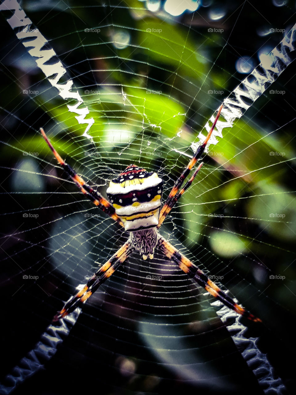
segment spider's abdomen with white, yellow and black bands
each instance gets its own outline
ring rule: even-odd
[[[127,231],[155,227],[159,220],[163,181],[157,173],[148,173],[129,165],[110,182],[107,196]]]

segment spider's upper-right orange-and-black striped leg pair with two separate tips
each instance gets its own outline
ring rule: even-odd
[[[215,128],[217,120],[220,117],[220,113],[221,113],[222,107],[223,107],[223,104],[221,104],[221,106],[219,107],[217,116],[216,116],[216,118],[214,120],[214,123],[212,125],[212,128],[211,128],[210,132],[206,136],[206,139],[204,140],[202,145],[199,146],[199,148],[195,152],[193,158],[190,160],[190,162],[188,163],[187,167],[185,168],[183,173],[180,175],[180,177],[178,178],[178,180],[175,182],[174,186],[172,187],[172,190],[170,191],[170,194],[167,197],[167,200],[165,201],[165,204],[163,205],[163,207],[162,207],[162,209],[160,211],[157,228],[160,228],[160,226],[163,223],[163,221],[164,221],[165,217],[167,216],[167,214],[169,214],[169,212],[174,207],[174,205],[176,204],[178,199],[184,194],[185,190],[191,185],[191,182],[195,179],[195,176],[199,172],[200,167],[202,167],[202,163],[201,163],[199,165],[199,167],[196,169],[196,171],[193,173],[193,175],[189,179],[189,181],[185,184],[184,188],[180,192],[178,192],[179,189],[181,188],[181,186],[183,185],[186,177],[189,175],[191,169],[193,168],[193,166],[195,166],[196,162],[199,160],[200,156],[204,152],[204,150],[206,148],[206,145],[207,145],[207,143],[208,143],[208,141],[209,141],[209,139],[210,139],[210,137],[212,135],[212,132],[213,132],[213,130]]]

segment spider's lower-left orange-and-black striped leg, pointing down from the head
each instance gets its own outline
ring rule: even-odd
[[[114,273],[126,258],[129,257],[133,250],[134,248],[130,246],[129,241],[120,247],[119,250],[88,280],[82,290],[67,301],[62,310],[57,312],[52,321],[55,322],[67,316],[74,311],[75,308],[79,307],[81,303],[84,303],[86,299],[96,292],[97,288]]]

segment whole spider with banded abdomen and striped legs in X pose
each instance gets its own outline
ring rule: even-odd
[[[66,173],[71,177],[81,192],[90,199],[99,209],[109,215],[119,225],[129,232],[129,239],[122,245],[118,251],[101,266],[97,272],[88,280],[87,284],[76,295],[71,297],[62,310],[56,313],[53,322],[64,318],[75,308],[84,303],[105,280],[107,280],[114,271],[137,250],[142,258],[148,257],[153,259],[155,248],[158,248],[169,260],[176,263],[182,271],[187,273],[199,286],[202,286],[207,292],[219,299],[224,305],[241,314],[242,316],[254,322],[261,322],[260,318],[245,310],[235,303],[225,292],[223,292],[206,274],[200,270],[193,262],[179,252],[169,241],[159,234],[158,229],[174,207],[176,202],[184,194],[187,188],[195,179],[197,173],[203,165],[203,162],[197,166],[197,169],[191,175],[190,179],[182,185],[185,179],[195,166],[202,153],[206,148],[210,136],[214,130],[215,124],[219,119],[223,104],[219,107],[217,116],[206,139],[199,146],[197,152],[184,169],[183,173],[175,182],[169,193],[167,200],[161,208],[161,196],[163,191],[163,181],[157,173],[147,172],[146,169],[131,164],[118,178],[110,182],[105,199],[99,192],[94,190],[61,158],[49,141],[44,130],[41,128],[41,134],[48,144],[52,153],[63,167]]]

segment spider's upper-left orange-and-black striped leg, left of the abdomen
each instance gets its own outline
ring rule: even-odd
[[[118,217],[118,215],[115,213],[114,207],[109,203],[109,201],[107,199],[103,198],[103,196],[99,192],[94,190],[91,186],[86,184],[86,182],[78,174],[76,174],[75,170],[72,169],[72,167],[69,166],[61,158],[61,156],[58,154],[58,152],[56,152],[56,150],[52,146],[51,142],[49,141],[47,135],[45,134],[45,132],[42,128],[40,129],[40,132],[41,132],[43,138],[45,139],[45,141],[47,142],[47,145],[52,150],[52,153],[56,157],[56,160],[58,161],[58,163],[63,167],[63,169],[66,171],[66,173],[71,177],[71,179],[75,182],[75,184],[80,188],[81,192],[88,199],[90,199],[92,201],[92,203],[94,203],[94,205],[99,207],[99,209],[104,211],[104,213],[111,216],[111,218],[113,218],[114,221],[118,222],[118,224],[120,224],[121,226],[124,226],[122,221]]]

